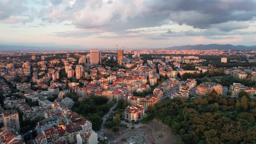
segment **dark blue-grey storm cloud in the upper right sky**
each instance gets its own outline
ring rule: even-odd
[[[169,20],[173,22],[200,29],[256,16],[255,0],[148,0],[146,4],[154,11],[170,12]]]

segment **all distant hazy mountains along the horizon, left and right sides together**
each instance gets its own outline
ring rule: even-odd
[[[104,48],[98,48],[104,49]],[[196,50],[207,50],[207,49],[223,49],[223,50],[256,50],[256,46],[233,46],[230,44],[219,45],[219,44],[209,44],[209,45],[186,45],[186,46],[172,46],[167,49],[196,49]],[[66,50],[89,50],[89,48],[84,48],[82,46],[18,46],[18,45],[1,45],[0,52],[46,52],[46,51],[66,51]],[[107,50],[105,48],[104,50]],[[113,49],[108,49],[113,50]]]

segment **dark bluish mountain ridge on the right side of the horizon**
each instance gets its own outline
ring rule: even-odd
[[[209,44],[209,45],[186,45],[186,46],[172,46],[168,47],[167,49],[173,50],[173,49],[196,49],[196,50],[208,50],[208,49],[219,49],[219,50],[256,50],[256,46],[233,46],[230,44],[226,45],[220,45],[220,44]]]

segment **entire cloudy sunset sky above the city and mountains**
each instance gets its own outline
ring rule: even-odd
[[[0,44],[256,45],[256,0],[0,0]]]

